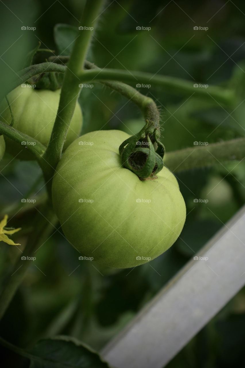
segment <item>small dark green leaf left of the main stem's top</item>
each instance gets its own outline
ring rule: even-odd
[[[68,24],[56,24],[54,26],[54,40],[58,54],[69,56],[77,36],[78,27]]]

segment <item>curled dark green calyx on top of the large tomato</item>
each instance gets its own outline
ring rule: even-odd
[[[153,179],[163,168],[164,145],[159,141],[160,130],[147,120],[139,133],[126,139],[119,147],[121,162],[140,179]],[[160,148],[160,155],[156,152]]]

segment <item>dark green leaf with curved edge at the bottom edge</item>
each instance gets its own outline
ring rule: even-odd
[[[29,351],[29,368],[108,368],[100,356],[85,344],[68,336],[40,340]]]

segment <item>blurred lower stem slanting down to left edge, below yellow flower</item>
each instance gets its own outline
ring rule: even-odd
[[[6,277],[6,280],[4,280],[0,295],[0,319],[4,315],[4,312],[10,304],[16,290],[21,284],[30,262],[33,262],[29,258],[32,257],[34,252],[45,243],[56,222],[57,217],[49,207],[49,204],[46,203],[42,208],[40,208],[40,211],[36,214],[33,220],[33,227],[38,224],[38,229],[33,230],[30,234],[24,251],[19,255],[13,269]]]

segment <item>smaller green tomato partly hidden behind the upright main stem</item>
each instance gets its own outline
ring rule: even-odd
[[[22,87],[25,86],[25,87]],[[60,89],[50,91],[47,89],[33,89],[27,85],[21,85],[8,94],[8,100],[14,116],[13,127],[37,139],[43,145],[49,143],[50,135],[56,118]],[[11,113],[6,100],[1,104],[2,112],[0,120],[11,123]],[[77,103],[72,121],[67,133],[64,149],[71,144],[79,134],[82,127],[82,112]],[[25,146],[25,144],[24,144]],[[32,154],[19,144],[6,137],[6,151],[18,159],[33,159]]]

